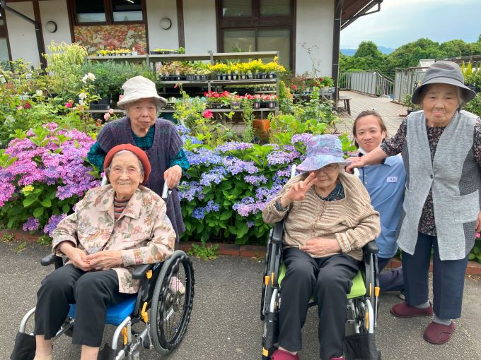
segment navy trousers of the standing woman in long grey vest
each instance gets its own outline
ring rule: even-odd
[[[460,260],[439,258],[438,238],[418,233],[415,253],[402,251],[405,296],[408,305],[416,306],[429,299],[429,260],[433,251],[433,311],[440,318],[461,317],[464,275],[468,257]]]

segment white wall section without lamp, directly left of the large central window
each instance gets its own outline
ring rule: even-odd
[[[185,52],[216,52],[216,1],[183,0],[183,8]]]

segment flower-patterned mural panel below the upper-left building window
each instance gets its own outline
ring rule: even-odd
[[[138,54],[147,53],[144,24],[74,26],[75,41],[86,47],[88,54],[97,50],[135,48]]]

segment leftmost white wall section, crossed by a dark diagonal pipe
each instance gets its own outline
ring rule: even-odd
[[[33,6],[30,1],[21,3],[10,2],[8,6],[33,20]],[[34,25],[8,10],[5,11],[5,19],[12,59],[22,58],[33,66],[40,66]]]

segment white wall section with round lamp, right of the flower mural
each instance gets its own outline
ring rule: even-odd
[[[176,1],[146,0],[146,10],[149,49],[178,49],[179,36]],[[161,18],[169,18],[172,21],[170,29],[163,30],[161,28]]]

